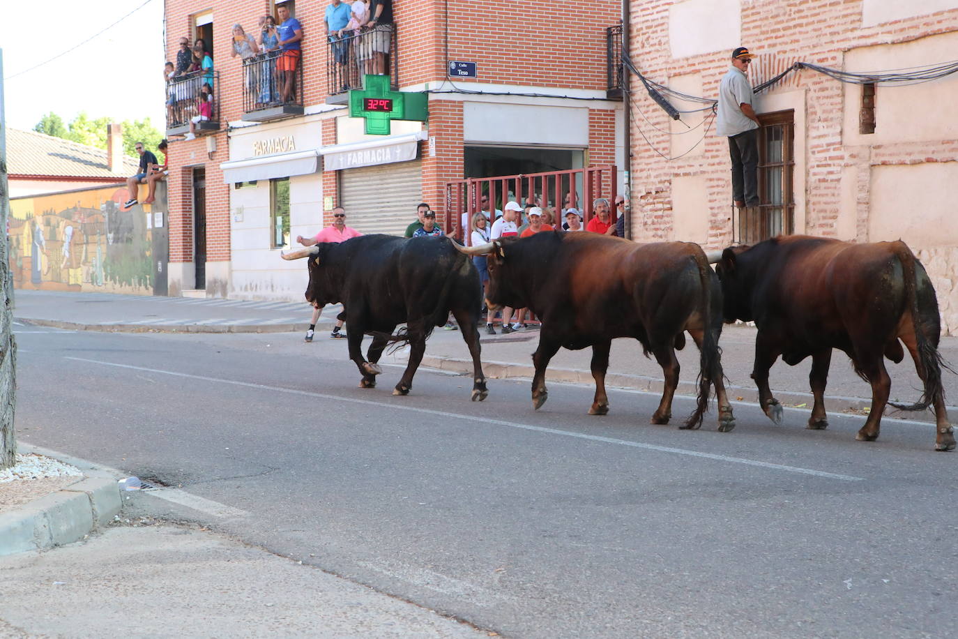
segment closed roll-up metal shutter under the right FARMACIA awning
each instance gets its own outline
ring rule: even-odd
[[[346,224],[360,233],[402,236],[422,201],[422,160],[343,169],[339,204]]]

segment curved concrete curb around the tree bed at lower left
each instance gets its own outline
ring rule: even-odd
[[[59,491],[0,514],[0,557],[80,541],[120,513],[120,487],[106,473],[88,470]]]

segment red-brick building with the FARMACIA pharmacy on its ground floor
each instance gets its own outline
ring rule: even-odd
[[[620,3],[592,3],[583,19],[581,3],[567,0],[393,0],[389,80],[424,92],[428,117],[393,120],[387,135],[367,134],[349,115],[348,89],[362,88],[374,58],[361,34],[338,63],[325,35],[328,4],[167,1],[168,59],[180,37],[199,37],[215,68],[215,117],[193,140],[173,137],[186,131],[188,112],[167,126],[171,295],[300,299],[302,264],[279,252],[329,224],[335,205],[363,232],[395,234],[420,201],[445,211],[447,180],[624,166],[623,105],[609,99],[606,60]],[[230,56],[232,26],[259,34],[258,19],[280,6],[304,32],[302,75],[285,103],[270,95],[274,60],[244,68]],[[450,78],[450,60],[474,62],[476,77]],[[199,81],[174,95],[189,103]]]

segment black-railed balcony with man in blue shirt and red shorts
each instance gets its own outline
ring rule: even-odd
[[[288,71],[289,58],[270,51],[243,60],[241,119],[271,122],[303,115],[303,57]]]

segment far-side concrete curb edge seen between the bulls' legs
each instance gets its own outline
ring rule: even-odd
[[[460,373],[463,375],[472,375],[472,360],[459,359],[456,357],[442,357],[438,355],[423,355],[421,366],[449,371],[451,373]],[[483,373],[486,377],[493,379],[506,379],[509,377],[528,377],[532,378],[536,374],[536,368],[528,364],[516,364],[513,362],[484,360],[482,363]],[[595,380],[592,378],[591,371],[571,368],[550,367],[546,371],[547,381],[559,381],[566,383],[582,384],[589,388],[593,387]],[[627,375],[624,373],[609,373],[605,376],[605,385],[612,388],[625,388],[628,390],[642,391],[647,393],[662,392],[664,382],[657,377],[646,377],[640,375]],[[726,384],[725,390],[728,392],[729,399],[733,403],[742,398],[743,401],[758,402],[758,390],[754,387],[735,386]],[[698,389],[696,385],[689,381],[679,381],[678,388],[675,389],[676,395],[687,397],[696,397]],[[798,408],[811,412],[811,406],[814,398],[810,393],[798,393],[795,391],[774,390],[775,399],[782,402],[787,408]],[[867,415],[867,410],[872,405],[871,398],[853,398],[844,396],[825,396],[825,410],[830,413],[852,412],[858,415]],[[951,406],[947,407],[949,411],[955,410]],[[914,422],[934,423],[935,416],[931,411],[907,413],[891,408],[891,411],[885,411],[885,417],[905,418]]]

